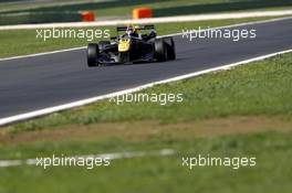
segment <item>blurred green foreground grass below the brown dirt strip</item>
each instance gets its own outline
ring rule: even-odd
[[[108,168],[17,167],[0,169],[1,193],[46,192],[282,192],[291,191],[291,133],[229,136],[215,139],[155,140],[145,142],[148,149],[167,144],[178,151],[174,157],[149,157],[114,160]],[[108,141],[109,144],[112,141]],[[81,143],[91,149],[104,143]],[[142,144],[128,143],[136,149]],[[25,144],[24,144],[25,146]],[[126,150],[126,146],[121,143]],[[53,146],[49,146],[54,152]],[[76,146],[77,147],[77,146]],[[73,147],[72,147],[73,148]],[[67,151],[64,151],[67,152]],[[181,157],[255,157],[255,168],[181,167]]]

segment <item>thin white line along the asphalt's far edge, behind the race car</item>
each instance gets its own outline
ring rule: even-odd
[[[283,20],[289,20],[289,19],[292,19],[292,17],[279,18],[279,19],[270,19],[270,20],[264,20],[264,21],[244,22],[244,23],[230,24],[230,25],[217,26],[217,28],[211,28],[211,29],[216,30],[216,29],[236,28],[236,26],[243,26],[243,25],[251,25],[251,24],[263,24],[263,23],[275,22],[275,21],[283,21]],[[211,30],[211,29],[209,29],[209,30]],[[202,30],[202,32],[204,32],[204,30]],[[181,35],[181,34],[182,33],[179,32],[179,33],[173,33],[173,34],[168,34],[168,35],[160,35],[158,37],[164,37],[164,36],[178,36],[178,35]],[[83,49],[86,49],[86,46],[80,46],[80,47],[73,47],[73,49],[65,49],[65,50],[59,50],[59,51],[51,51],[51,52],[43,52],[43,53],[38,53],[38,54],[29,54],[29,55],[20,55],[20,56],[12,56],[12,57],[3,57],[3,58],[0,58],[0,62],[2,62],[2,61],[10,61],[10,60],[17,60],[17,58],[42,56],[42,55],[49,55],[49,54],[56,54],[56,53],[63,53],[63,52],[83,50]]]

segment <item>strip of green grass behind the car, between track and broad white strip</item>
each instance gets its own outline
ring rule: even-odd
[[[159,35],[181,32],[182,29],[198,29],[208,26],[222,26],[236,24],[241,22],[252,22],[267,20],[271,18],[254,18],[254,19],[240,19],[240,20],[222,20],[222,21],[204,21],[204,22],[185,22],[185,23],[168,23],[156,24],[157,33]],[[101,30],[109,29],[111,34],[115,35],[114,28],[97,28]],[[25,55],[33,53],[41,53],[48,51],[55,51],[62,49],[86,46],[87,39],[50,39],[43,41],[36,39],[35,30],[8,30],[0,31],[0,58],[7,56]],[[100,41],[95,39],[94,41]],[[21,42],[21,43],[19,43]]]

